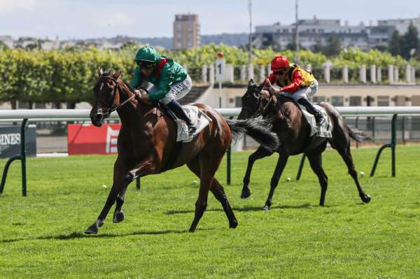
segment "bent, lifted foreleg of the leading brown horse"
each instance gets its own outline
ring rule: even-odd
[[[125,192],[127,191],[127,187],[134,179],[141,176],[147,176],[155,171],[155,164],[153,164],[152,159],[145,159],[141,161],[137,166],[134,167],[131,171],[125,174],[123,178],[123,183],[120,187],[120,191],[118,192],[117,196],[117,204],[116,210],[113,214],[113,222],[119,223],[123,222],[124,220],[124,212],[123,212],[123,203],[125,199]]]

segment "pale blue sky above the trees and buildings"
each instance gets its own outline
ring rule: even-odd
[[[350,24],[420,15],[420,0],[299,0],[300,18]],[[253,26],[295,19],[295,0],[253,0]],[[172,36],[176,13],[199,16],[201,34],[248,32],[247,0],[0,0],[0,35],[38,38]]]

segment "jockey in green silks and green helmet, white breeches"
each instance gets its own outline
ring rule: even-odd
[[[148,90],[135,90],[137,96],[144,100],[159,100],[167,105],[181,120],[185,121],[188,131],[195,131],[190,117],[181,108],[178,99],[186,96],[193,87],[190,76],[183,67],[169,57],[158,56],[155,48],[144,46],[137,51],[134,61],[137,67],[131,87],[137,88],[145,81],[153,86]]]

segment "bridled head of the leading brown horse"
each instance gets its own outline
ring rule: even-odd
[[[118,78],[121,76],[121,71],[104,73],[100,69],[98,75],[98,81],[93,87],[94,101],[90,110],[90,120],[94,126],[101,127],[102,120],[109,117],[120,103]]]

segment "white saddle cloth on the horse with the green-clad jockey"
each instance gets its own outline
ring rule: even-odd
[[[193,141],[193,138],[197,136],[202,129],[207,127],[211,122],[211,118],[208,117],[205,113],[203,113],[200,108],[196,106],[182,106],[183,110],[187,113],[188,117],[190,117],[191,122],[193,122],[194,127],[196,128],[194,134],[188,133],[188,126],[186,122],[180,119],[175,119],[176,126],[178,127],[176,133],[176,141],[182,141],[183,143],[189,143]]]

